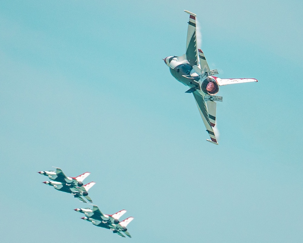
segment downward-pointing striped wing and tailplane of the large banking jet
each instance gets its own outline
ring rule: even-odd
[[[208,142],[218,145],[216,135],[213,127],[216,122],[216,107],[217,104],[215,101],[204,101],[205,94],[199,90],[192,92],[195,97],[198,110],[200,112],[201,118],[205,125],[206,131],[211,140],[206,139]]]

